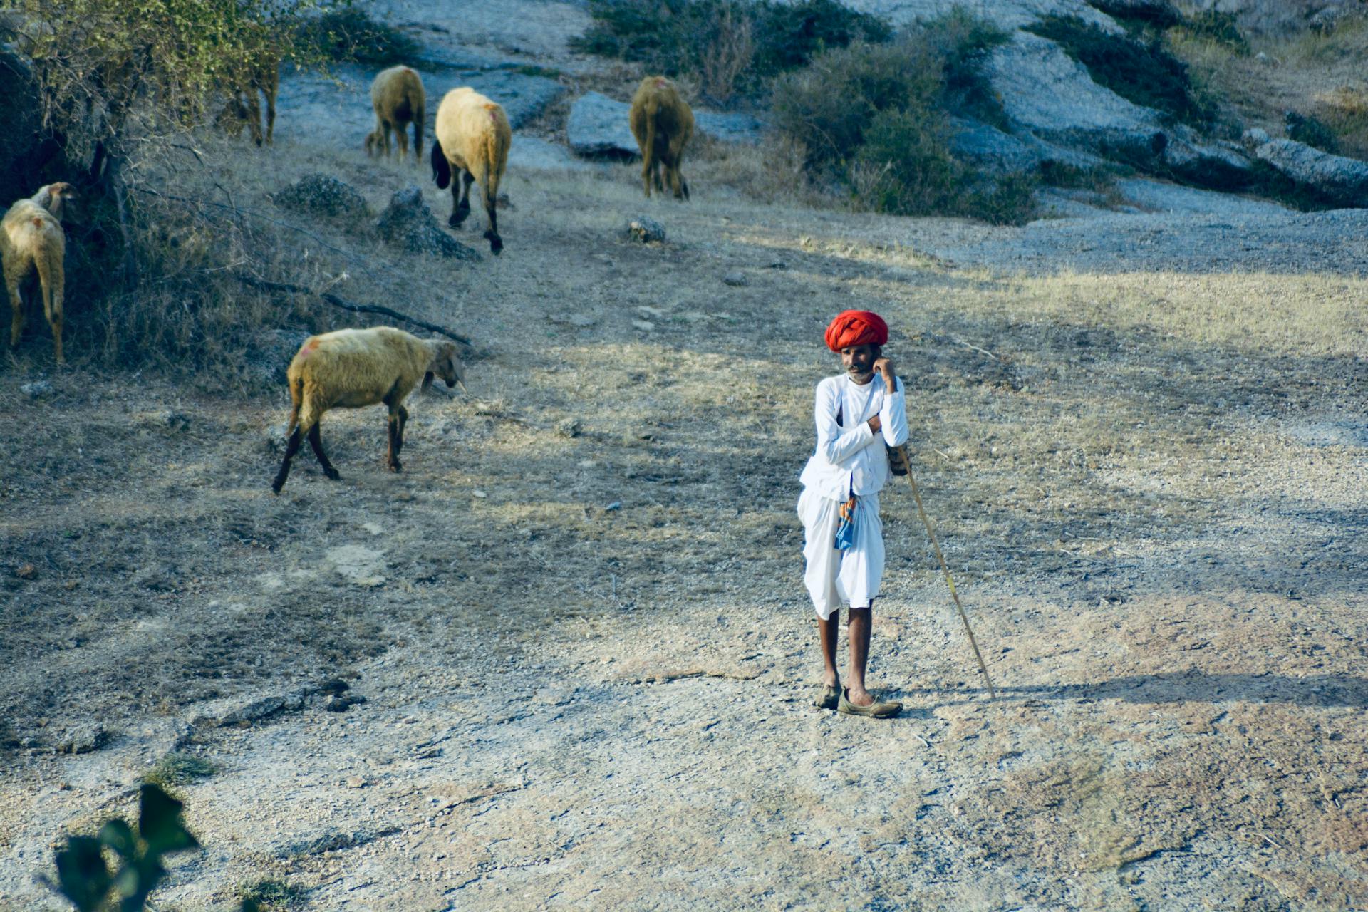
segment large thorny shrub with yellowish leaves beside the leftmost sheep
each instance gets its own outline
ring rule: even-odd
[[[0,38],[22,71],[12,81],[22,94],[3,104],[37,111],[25,144],[52,148],[47,160],[67,172],[49,167],[44,179],[71,180],[81,193],[64,226],[78,358],[196,369],[279,324],[276,308],[227,273],[269,256],[254,243],[260,231],[226,217],[235,206],[202,202],[226,191],[192,131],[245,74],[319,62],[298,40],[300,23],[347,1],[4,0]],[[3,164],[8,175],[37,174]],[[202,197],[186,190],[187,171]],[[36,189],[10,187],[8,198]]]

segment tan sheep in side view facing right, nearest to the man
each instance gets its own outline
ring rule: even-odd
[[[384,459],[391,472],[398,472],[402,468],[404,425],[409,420],[404,398],[419,380],[425,390],[434,375],[442,377],[447,387],[461,384],[465,390],[465,365],[456,354],[454,342],[430,342],[391,327],[337,330],[309,336],[286,372],[293,403],[290,439],[271,489],[280,494],[290,474],[290,461],[305,436],[323,466],[323,474],[334,481],[342,477],[323,453],[319,433],[323,413],[335,407],[358,409],[378,402],[389,406],[390,448]]]

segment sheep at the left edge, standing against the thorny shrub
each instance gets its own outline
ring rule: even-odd
[[[62,213],[75,200],[70,183],[49,183],[27,200],[19,200],[0,220],[0,256],[4,261],[4,286],[10,293],[14,317],[10,323],[10,346],[19,346],[23,332],[23,298],[21,283],[34,273],[42,291],[42,313],[52,327],[52,349],[57,364],[62,356],[62,295],[66,275],[62,260],[67,241],[62,232]]]

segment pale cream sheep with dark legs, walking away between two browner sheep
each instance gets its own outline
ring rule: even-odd
[[[436,109],[436,141],[432,144],[432,179],[438,187],[451,185],[451,227],[471,215],[471,183],[480,182],[484,191],[484,212],[490,230],[484,239],[490,252],[503,249],[494,204],[499,180],[509,160],[513,130],[503,108],[479,94],[475,89],[451,89]],[[453,171],[460,175],[453,179]]]

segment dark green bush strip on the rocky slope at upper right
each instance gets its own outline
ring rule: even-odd
[[[1129,101],[1198,127],[1215,118],[1213,107],[1194,89],[1187,64],[1159,37],[1116,36],[1077,16],[1056,15],[1027,30],[1057,42],[1093,79]]]

